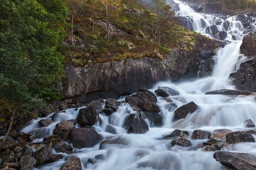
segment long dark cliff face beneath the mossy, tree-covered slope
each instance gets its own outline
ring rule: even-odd
[[[188,70],[189,66],[199,62],[201,53],[213,54],[224,43],[200,35],[195,35],[195,41],[193,52],[174,49],[163,59],[144,57],[86,66],[67,63],[58,90],[68,103],[91,102],[95,98],[116,99],[138,89],[151,88],[159,81],[177,80],[188,72],[197,77],[198,70]]]

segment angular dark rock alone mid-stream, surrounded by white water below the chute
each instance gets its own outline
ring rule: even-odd
[[[199,108],[194,102],[189,102],[174,111],[175,118],[185,118],[188,113],[193,113]]]

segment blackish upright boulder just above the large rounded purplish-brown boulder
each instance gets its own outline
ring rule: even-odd
[[[97,109],[89,106],[79,110],[76,120],[80,127],[92,126],[96,123],[97,115]]]

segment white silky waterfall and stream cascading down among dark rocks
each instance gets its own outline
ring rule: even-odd
[[[244,56],[239,53],[243,38],[242,23],[237,21],[236,17],[221,19],[213,15],[199,14],[186,4],[180,1],[175,2],[180,4],[181,11],[179,11],[179,15],[191,18],[194,31],[196,32],[210,36],[205,32],[206,27],[216,24],[217,20],[221,22],[228,20],[230,22],[228,30],[225,30],[222,23],[217,26],[220,31],[225,30],[228,33],[225,40],[227,40],[229,44],[218,50],[215,56],[216,64],[212,76],[178,83],[159,82],[150,89],[150,91],[154,92],[158,86],[171,87],[180,93],[180,95],[169,96],[178,107],[193,101],[200,106],[200,109],[193,114],[187,115],[184,119],[174,120],[174,110],[169,109],[167,107],[168,103],[163,100],[163,98],[158,97],[158,105],[161,108],[160,114],[163,116],[163,126],[154,127],[153,124],[147,120],[150,129],[145,134],[127,134],[126,130],[123,128],[127,110],[134,112],[129,104],[121,104],[118,110],[111,115],[110,119],[108,116],[100,114],[102,123],[101,125],[95,125],[94,129],[101,134],[103,138],[119,136],[129,144],[110,145],[103,150],[99,150],[99,144],[97,144],[93,148],[75,150],[80,152],[71,155],[80,158],[83,169],[228,169],[212,157],[214,152],[205,152],[202,151],[201,148],[198,148],[198,145],[207,141],[207,139],[191,139],[192,147],[186,148],[178,145],[171,147],[170,141],[172,140],[163,139],[162,136],[170,134],[175,129],[188,131],[189,137],[196,129],[209,132],[223,128],[232,131],[248,131],[253,129],[245,128],[243,122],[249,118],[252,119],[253,122],[256,122],[256,101],[254,96],[205,95],[205,92],[211,90],[235,89],[228,77],[231,72],[236,71],[238,68],[237,63],[239,60],[243,60],[244,58]],[[236,40],[234,40],[232,36],[235,36]],[[119,101],[123,101],[123,99]],[[66,113],[59,113],[54,123],[48,127],[48,133],[52,134],[55,125],[60,120],[76,119],[78,112],[79,110],[71,108],[66,110]],[[32,120],[30,125],[22,131],[28,133],[35,130],[39,127],[38,121],[40,119],[51,118],[53,114],[54,113],[44,118]],[[109,123],[114,125],[117,134],[105,132],[106,125]],[[78,125],[76,126],[78,127]],[[41,140],[42,139],[38,139],[37,141]],[[109,150],[110,148],[113,149]],[[230,144],[222,150],[255,155],[256,143]],[[87,163],[89,158],[94,158],[99,154],[103,154],[105,159],[99,160],[94,165]],[[63,155],[70,156],[65,153]],[[37,169],[59,169],[63,162],[65,162],[64,158],[54,163],[39,166]]]

